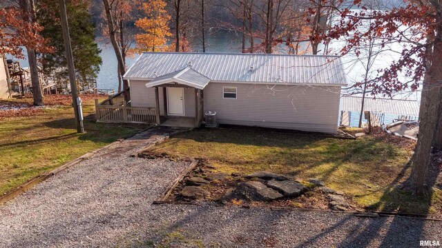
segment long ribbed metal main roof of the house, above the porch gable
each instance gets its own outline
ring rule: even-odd
[[[338,56],[144,52],[124,74],[152,80],[191,66],[211,81],[347,85]]]

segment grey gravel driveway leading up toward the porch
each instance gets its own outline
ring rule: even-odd
[[[151,205],[188,165],[129,155],[167,133],[109,147],[0,206],[0,247],[419,247],[442,222],[316,211]]]

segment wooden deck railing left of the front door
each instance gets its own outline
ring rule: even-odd
[[[122,104],[102,105],[95,100],[97,122],[103,123],[157,123],[160,118],[155,107],[131,107]]]

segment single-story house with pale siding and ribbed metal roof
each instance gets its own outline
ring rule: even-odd
[[[325,133],[337,131],[346,85],[338,56],[282,54],[145,52],[124,79],[126,119],[144,109],[161,125],[196,127],[212,111],[222,124]]]

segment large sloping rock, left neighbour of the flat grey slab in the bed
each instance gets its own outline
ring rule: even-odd
[[[241,200],[259,200],[268,201],[282,198],[276,190],[264,185],[264,183],[257,181],[249,181],[238,184],[238,187],[232,192],[230,198],[237,198]]]

